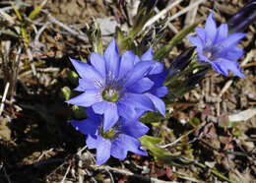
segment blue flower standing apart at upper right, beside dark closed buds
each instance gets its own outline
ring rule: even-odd
[[[197,47],[197,54],[201,62],[210,64],[218,73],[228,75],[228,70],[234,75],[245,78],[239,64],[235,60],[243,55],[243,50],[236,47],[245,33],[235,32],[228,34],[226,24],[218,29],[213,13],[206,21],[205,29],[197,28],[197,37],[190,36],[188,39]]]

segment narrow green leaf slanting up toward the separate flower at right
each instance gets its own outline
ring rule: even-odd
[[[198,23],[190,25],[183,30],[180,30],[175,36],[168,41],[168,43],[162,46],[158,51],[155,53],[155,59],[160,60],[168,55],[170,50],[176,46],[184,37],[188,35],[191,31],[193,31],[197,27]]]

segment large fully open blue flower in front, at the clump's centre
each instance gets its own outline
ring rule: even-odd
[[[146,91],[156,86],[148,76],[159,64],[153,60],[153,53],[151,57],[140,61],[132,51],[126,51],[120,57],[113,40],[103,56],[92,53],[89,64],[71,59],[81,77],[75,90],[83,93],[67,102],[84,107],[92,106],[96,114],[103,114],[104,131],[109,130],[119,116],[134,118],[137,109],[156,110],[154,99],[146,94]]]

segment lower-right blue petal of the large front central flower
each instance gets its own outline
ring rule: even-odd
[[[134,108],[144,109],[154,111],[155,106],[152,103],[151,99],[147,97],[145,94],[137,94],[132,92],[127,92],[125,98],[126,102],[129,102],[134,106]]]

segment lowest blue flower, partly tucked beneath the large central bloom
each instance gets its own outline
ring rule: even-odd
[[[120,117],[112,128],[104,132],[103,116],[96,114],[91,107],[87,108],[86,113],[88,119],[72,120],[71,124],[81,133],[87,135],[88,148],[96,149],[96,164],[104,163],[110,155],[124,159],[127,152],[148,155],[141,149],[141,142],[138,138],[145,135],[149,128],[138,121],[139,115],[130,120]]]

